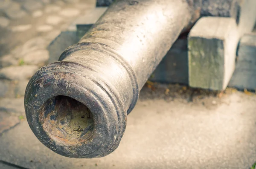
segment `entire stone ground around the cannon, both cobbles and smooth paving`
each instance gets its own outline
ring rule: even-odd
[[[94,2],[40,0],[37,8],[10,2],[9,11],[0,4],[0,169],[250,169],[256,162],[255,93],[151,83],[113,153],[73,159],[52,152],[26,122],[26,84],[47,64],[51,40]]]

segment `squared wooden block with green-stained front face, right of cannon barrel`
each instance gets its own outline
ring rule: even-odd
[[[234,18],[202,17],[189,32],[189,86],[223,90],[235,69],[239,33]]]

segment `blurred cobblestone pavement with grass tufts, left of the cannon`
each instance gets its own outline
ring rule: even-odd
[[[47,64],[47,46],[95,0],[0,0],[0,134],[25,118],[29,78]]]

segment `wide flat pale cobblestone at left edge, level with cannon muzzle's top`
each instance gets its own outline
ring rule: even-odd
[[[0,69],[0,78],[9,80],[27,80],[38,70],[38,66],[22,65]]]

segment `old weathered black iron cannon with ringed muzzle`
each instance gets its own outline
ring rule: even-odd
[[[118,0],[25,92],[35,136],[70,158],[113,152],[139,92],[181,33],[202,16],[233,17],[238,0]]]

